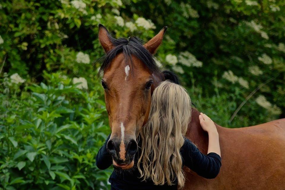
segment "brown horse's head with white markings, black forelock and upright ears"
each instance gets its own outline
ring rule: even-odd
[[[152,54],[166,29],[142,45],[137,37],[114,39],[99,25],[99,41],[106,52],[99,72],[103,73],[102,86],[112,130],[107,150],[117,168],[129,169],[134,165],[136,138],[148,120],[151,94],[165,80]]]

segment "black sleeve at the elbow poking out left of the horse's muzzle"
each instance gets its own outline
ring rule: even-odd
[[[96,156],[96,166],[100,170],[105,170],[110,167],[113,163],[112,156],[107,151],[107,142],[110,139],[111,134],[109,134],[107,140],[105,141],[104,145],[100,148]]]

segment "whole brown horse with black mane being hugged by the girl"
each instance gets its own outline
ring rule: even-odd
[[[136,137],[148,120],[151,94],[163,80],[151,54],[162,42],[166,27],[141,45],[138,38],[114,39],[99,25],[99,41],[106,51],[100,69],[112,134],[107,149],[113,164],[129,169],[137,152]],[[172,78],[171,78],[172,77]],[[187,137],[207,153],[208,134],[192,109]],[[184,189],[285,189],[285,119],[257,126],[228,129],[217,125],[222,167],[215,179],[205,179],[185,168]]]

